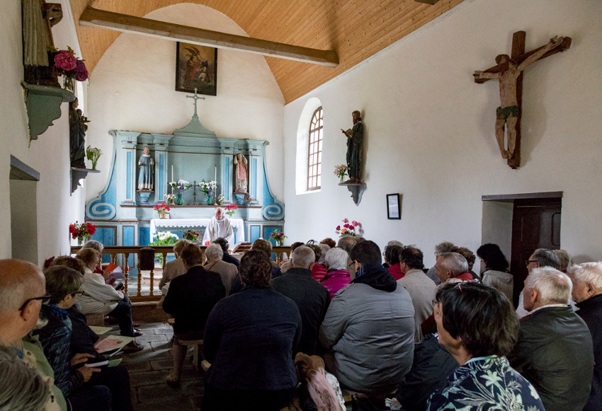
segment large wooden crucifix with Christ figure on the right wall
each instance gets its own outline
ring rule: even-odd
[[[571,47],[571,37],[554,37],[542,47],[525,52],[524,31],[512,36],[512,55],[499,54],[496,66],[475,71],[475,83],[499,79],[500,106],[496,110],[495,135],[502,158],[511,168],[521,166],[521,104],[523,100],[523,70],[540,59]],[[504,128],[508,146],[504,144]]]

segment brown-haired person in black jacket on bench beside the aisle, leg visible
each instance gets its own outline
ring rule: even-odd
[[[180,257],[186,267],[186,274],[171,280],[163,302],[164,311],[176,318],[174,345],[171,347],[174,371],[171,371],[166,380],[170,386],[180,383],[182,364],[186,357],[186,346],[180,345],[179,340],[202,340],[209,313],[217,301],[226,296],[220,274],[203,268],[203,252],[198,245],[186,245]]]

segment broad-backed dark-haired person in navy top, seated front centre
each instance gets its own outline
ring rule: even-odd
[[[244,288],[215,305],[205,327],[203,411],[278,411],[295,395],[293,353],[301,336],[294,301],[270,286],[271,264],[259,250],[240,261]],[[171,291],[170,291],[171,292]]]

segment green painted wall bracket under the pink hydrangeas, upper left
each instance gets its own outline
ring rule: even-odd
[[[29,138],[37,140],[38,136],[61,117],[61,104],[75,100],[74,93],[64,88],[37,86],[21,82],[25,89],[25,105],[29,117]]]

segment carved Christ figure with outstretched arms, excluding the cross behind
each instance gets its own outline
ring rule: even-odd
[[[511,158],[516,149],[516,125],[518,118],[521,117],[521,108],[518,107],[517,98],[517,80],[521,72],[527,66],[535,63],[543,55],[552,49],[558,47],[564,37],[554,37],[537,52],[527,57],[521,64],[516,64],[508,54],[499,54],[496,57],[496,64],[499,66],[499,72],[489,73],[487,71],[475,71],[475,79],[499,79],[499,99],[501,105],[496,110],[495,136],[499,151],[503,158]],[[506,127],[507,126],[507,127]],[[504,127],[508,130],[508,148],[504,144]]]

